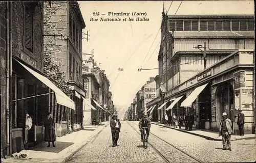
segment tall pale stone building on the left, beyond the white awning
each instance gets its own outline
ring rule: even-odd
[[[68,109],[64,119],[56,124],[57,136],[66,134],[69,125],[74,131],[82,126],[82,97],[85,97],[86,91],[83,89],[81,77],[81,42],[82,29],[85,27],[76,1],[44,3],[44,53],[50,55],[53,62],[59,65],[73,90],[75,102],[75,111]]]

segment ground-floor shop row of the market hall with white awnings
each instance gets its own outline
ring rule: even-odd
[[[219,131],[222,113],[226,112],[233,122],[232,128],[235,134],[238,134],[238,109],[241,108],[245,115],[245,133],[254,133],[253,69],[254,51],[246,49],[235,51],[169,90],[162,103],[166,104],[167,111],[171,109],[176,116],[185,112],[193,114],[195,127],[212,131]],[[175,100],[168,106],[170,99]],[[160,107],[158,114],[162,114]],[[160,118],[161,115],[158,115],[158,120]]]

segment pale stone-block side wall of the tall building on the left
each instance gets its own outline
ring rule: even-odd
[[[68,15],[66,1],[44,3],[44,54],[51,54],[53,61],[67,75]],[[67,77],[67,76],[66,76]]]

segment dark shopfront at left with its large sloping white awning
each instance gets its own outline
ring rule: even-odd
[[[48,113],[55,123],[59,123],[67,108],[75,109],[74,101],[36,68],[20,59],[13,60],[10,133],[13,153],[44,141],[44,120]],[[27,116],[32,118],[28,130],[25,128]]]

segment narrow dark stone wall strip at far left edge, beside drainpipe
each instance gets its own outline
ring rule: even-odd
[[[1,3],[0,13],[0,61],[1,61],[1,151],[6,155],[6,2]]]

